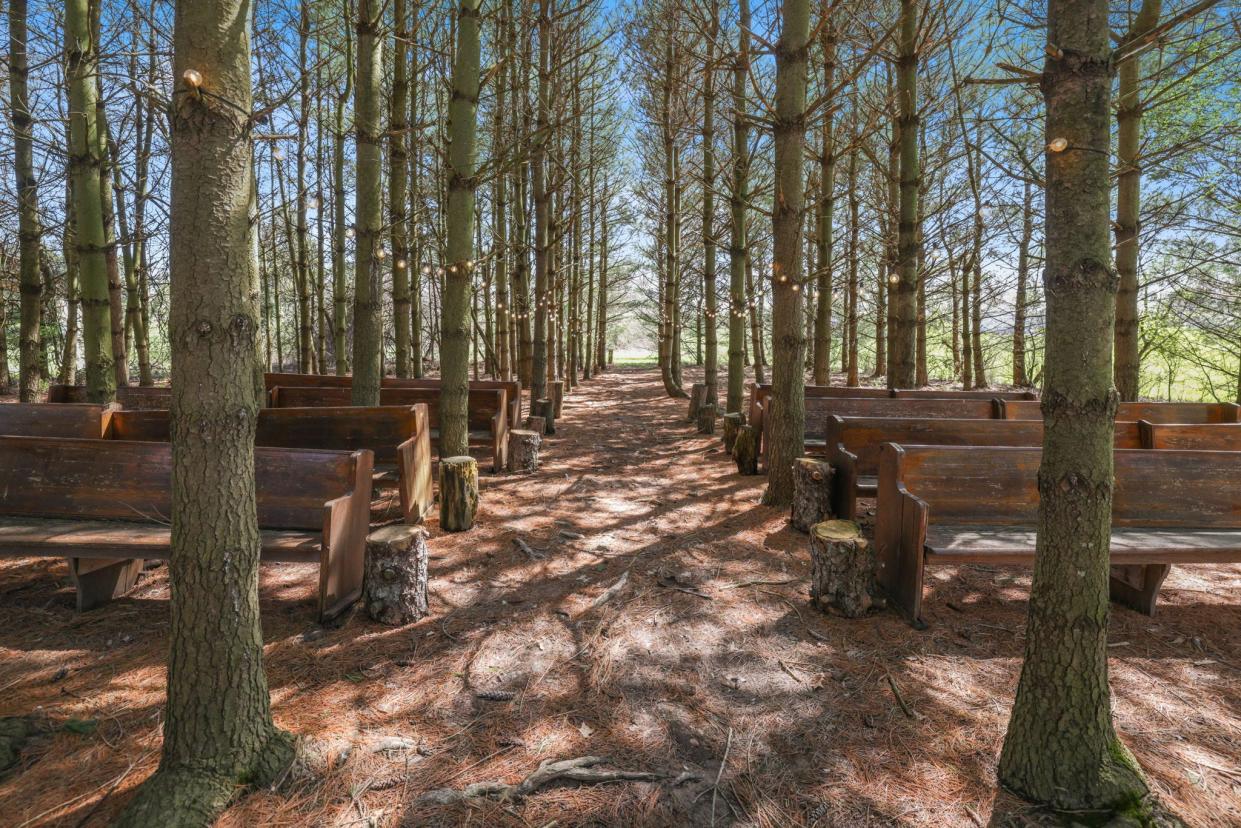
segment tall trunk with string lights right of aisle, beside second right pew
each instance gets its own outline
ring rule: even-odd
[[[783,0],[776,45],[776,192],[772,205],[772,411],[763,503],[793,502],[793,463],[805,451],[805,326],[802,324],[802,222],[805,176],[809,0]]]

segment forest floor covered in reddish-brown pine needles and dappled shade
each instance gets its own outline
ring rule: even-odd
[[[264,567],[274,715],[326,770],[220,824],[985,824],[1029,574],[932,571],[925,632],[827,616],[805,536],[685,411],[650,370],[573,391],[537,474],[484,475],[470,533],[432,521],[419,623],[319,627],[313,569]],[[47,731],[0,781],[4,824],[105,824],[155,768],[168,595],[156,569],[76,616],[62,562],[0,562],[0,716]],[[1241,566],[1178,567],[1111,642],[1117,726],[1159,796],[1241,824]],[[426,796],[581,756],[656,778]]]

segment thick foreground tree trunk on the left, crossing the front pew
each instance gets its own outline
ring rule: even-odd
[[[272,722],[258,617],[251,14],[248,0],[176,9],[168,708],[160,768],[122,826],[210,824],[238,783],[267,785],[293,758]]]

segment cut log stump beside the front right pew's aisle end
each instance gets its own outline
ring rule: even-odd
[[[810,598],[820,610],[860,618],[882,606],[875,580],[875,552],[851,520],[828,520],[810,529]]]

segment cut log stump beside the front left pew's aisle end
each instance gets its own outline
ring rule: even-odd
[[[395,525],[372,531],[365,572],[362,598],[372,619],[402,627],[427,616],[426,529]]]

